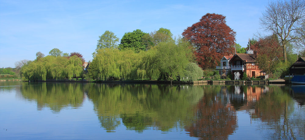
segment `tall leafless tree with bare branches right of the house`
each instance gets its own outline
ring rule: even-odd
[[[296,33],[300,30],[303,19],[305,19],[304,0],[271,1],[260,18],[262,28],[278,36],[284,62],[287,61],[286,44],[300,39]]]

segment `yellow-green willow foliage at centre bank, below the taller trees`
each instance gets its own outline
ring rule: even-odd
[[[192,60],[188,42],[160,42],[148,51],[99,49],[89,65],[92,79],[157,79],[180,80]]]

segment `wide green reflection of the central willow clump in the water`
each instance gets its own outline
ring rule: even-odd
[[[120,124],[118,117],[127,129],[138,132],[149,127],[161,131],[178,126],[182,129],[192,119],[193,105],[202,95],[202,87],[187,85],[90,84],[88,87],[88,97],[107,131],[115,131]],[[110,116],[116,119],[106,122],[104,118]]]

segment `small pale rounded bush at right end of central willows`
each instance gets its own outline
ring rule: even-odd
[[[189,63],[185,67],[184,76],[185,81],[194,81],[201,78],[203,75],[203,70],[196,63]]]

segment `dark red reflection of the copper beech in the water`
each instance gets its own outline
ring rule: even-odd
[[[236,112],[217,96],[217,86],[205,86],[205,95],[196,106],[193,123],[186,127],[191,137],[228,139],[237,128]]]

